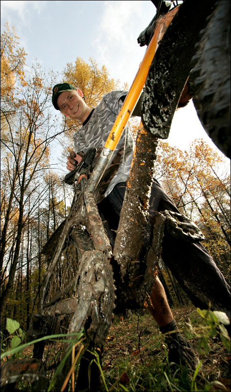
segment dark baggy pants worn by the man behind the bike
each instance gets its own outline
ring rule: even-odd
[[[117,184],[111,194],[98,204],[100,216],[112,245],[115,243],[114,230],[118,227],[125,189],[125,182]],[[164,210],[179,213],[158,181],[154,180],[149,216],[151,218],[155,212]],[[166,230],[161,257],[194,306],[208,309],[211,304],[212,310],[224,311],[230,318],[230,286],[200,242],[189,243],[178,240]]]

